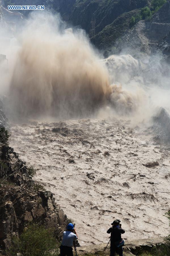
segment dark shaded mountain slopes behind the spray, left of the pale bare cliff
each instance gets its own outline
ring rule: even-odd
[[[4,5],[7,6],[7,3],[5,0]],[[12,3],[45,5],[46,9],[59,12],[69,24],[83,28],[95,46],[106,49],[125,30],[130,29],[131,16],[136,15],[140,8],[149,5],[150,0],[14,0]],[[22,13],[28,15],[29,12]]]

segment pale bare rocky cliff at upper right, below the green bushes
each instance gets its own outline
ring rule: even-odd
[[[169,56],[170,1],[167,1],[151,20],[138,22],[129,32],[124,33],[111,49],[112,53],[146,53],[161,51]],[[116,49],[116,50],[115,50]]]

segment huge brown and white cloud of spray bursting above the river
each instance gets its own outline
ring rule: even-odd
[[[10,33],[3,30],[6,37]],[[31,13],[0,49],[8,59],[1,63],[1,95],[7,95],[13,117],[62,119],[102,113],[141,121],[157,107],[169,108],[160,58],[154,57],[156,75],[152,65],[128,54],[104,59],[83,30],[70,28],[59,15]],[[147,72],[144,65],[150,67]]]

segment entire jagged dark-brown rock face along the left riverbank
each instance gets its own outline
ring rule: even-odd
[[[67,216],[56,205],[53,193],[35,190],[25,162],[4,144],[0,144],[0,179],[0,248],[9,248],[11,237],[21,234],[30,221],[54,228],[60,240]]]

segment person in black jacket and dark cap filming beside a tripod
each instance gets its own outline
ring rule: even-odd
[[[111,233],[110,237],[110,256],[115,256],[118,253],[119,256],[123,256],[124,241],[121,238],[121,234],[125,233],[125,230],[121,228],[120,220],[114,220],[112,227],[108,229],[107,233]]]

